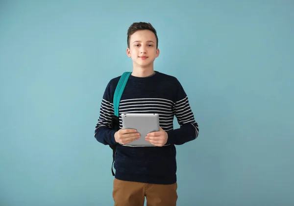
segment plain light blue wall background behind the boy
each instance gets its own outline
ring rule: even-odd
[[[158,31],[155,70],[187,92],[178,206],[294,205],[292,0],[0,1],[0,206],[111,206],[94,138],[104,89],[131,70],[126,32]],[[176,127],[178,125],[176,124]]]

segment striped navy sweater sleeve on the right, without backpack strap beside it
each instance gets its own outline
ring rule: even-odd
[[[176,116],[180,128],[167,131],[167,144],[180,145],[196,139],[198,137],[199,129],[191,110],[188,96],[180,82],[178,80],[176,80],[176,82],[176,101],[173,114]]]

